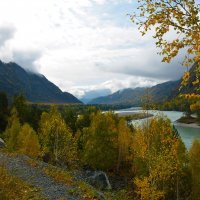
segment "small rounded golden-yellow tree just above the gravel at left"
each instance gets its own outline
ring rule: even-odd
[[[40,155],[40,144],[38,136],[29,124],[21,127],[18,136],[19,152],[30,157],[37,158]]]

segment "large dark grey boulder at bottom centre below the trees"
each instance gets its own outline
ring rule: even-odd
[[[111,190],[112,189],[109,179],[108,179],[108,176],[106,175],[105,172],[87,171],[86,173],[87,173],[87,177],[88,177],[87,180],[92,186],[94,186],[100,190]]]

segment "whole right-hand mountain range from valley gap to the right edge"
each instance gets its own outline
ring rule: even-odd
[[[196,90],[193,84],[195,81],[195,70],[197,63],[190,68],[190,79],[186,87],[181,87],[182,79],[177,81],[168,81],[155,85],[150,88],[135,88],[135,89],[123,89],[113,94],[95,98],[89,102],[89,104],[114,104],[114,105],[130,105],[140,106],[143,96],[148,92],[153,102],[162,102],[170,100],[184,93],[200,93]],[[148,91],[147,91],[148,89]]]

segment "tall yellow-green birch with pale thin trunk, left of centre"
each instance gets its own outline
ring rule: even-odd
[[[72,132],[54,106],[49,113],[42,113],[39,140],[43,155],[49,155],[51,162],[70,164],[74,159]]]

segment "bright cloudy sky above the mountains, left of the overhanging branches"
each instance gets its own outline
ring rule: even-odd
[[[77,97],[178,79],[179,59],[161,63],[152,36],[130,21],[135,2],[0,0],[0,59]]]

